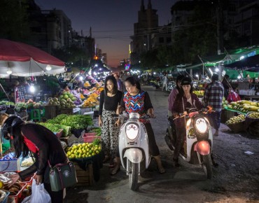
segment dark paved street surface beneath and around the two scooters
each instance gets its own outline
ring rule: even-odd
[[[172,167],[172,152],[165,144],[167,128],[167,92],[144,86],[151,96],[156,118],[153,130],[167,173],[159,174],[154,160],[139,178],[139,190],[133,192],[123,167],[115,176],[109,165],[101,169],[101,178],[94,186],[69,188],[64,202],[259,202],[258,154],[259,139],[232,134],[221,125],[214,139],[214,155],[219,167],[207,180],[203,169],[180,160],[181,168]],[[247,155],[245,151],[253,152]]]

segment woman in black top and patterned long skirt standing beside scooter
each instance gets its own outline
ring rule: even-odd
[[[99,102],[99,126],[102,127],[102,150],[104,151],[104,162],[113,160],[116,157],[118,148],[119,129],[115,126],[116,110],[123,92],[118,90],[117,80],[114,76],[107,76],[104,81],[104,90],[100,94]]]

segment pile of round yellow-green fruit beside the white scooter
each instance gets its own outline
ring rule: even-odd
[[[66,148],[66,156],[68,158],[88,158],[97,155],[102,150],[101,145],[94,143],[73,144],[73,146]]]

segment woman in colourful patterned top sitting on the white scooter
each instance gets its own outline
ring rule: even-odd
[[[150,116],[151,118],[155,118],[153,105],[151,103],[151,99],[148,95],[148,92],[141,90],[141,85],[138,80],[136,80],[133,76],[127,78],[125,80],[125,87],[127,92],[124,94],[124,97],[120,101],[120,106],[118,106],[117,113],[122,113],[124,110],[127,113],[139,113],[139,116]],[[153,128],[149,120],[139,119],[141,123],[143,123],[146,127],[146,131],[148,134],[148,145],[149,151],[158,165],[158,171],[160,174],[165,173],[164,167],[162,167],[162,162],[160,158],[160,151],[158,149],[158,145],[155,141],[155,134],[153,132]],[[116,125],[120,127],[120,119],[117,120]],[[117,151],[116,155],[116,165],[111,171],[111,174],[114,175],[120,170],[120,155]]]

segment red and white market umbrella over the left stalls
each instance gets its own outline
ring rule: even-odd
[[[25,43],[0,38],[0,78],[63,73],[65,64],[52,55]]]

